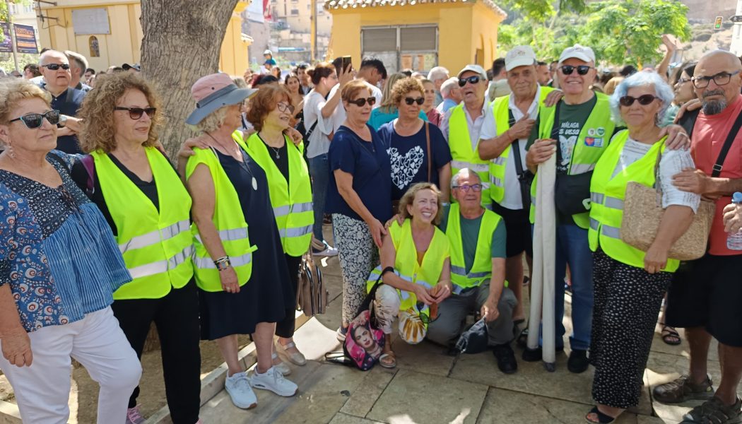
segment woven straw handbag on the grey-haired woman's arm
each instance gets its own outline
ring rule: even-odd
[[[621,240],[643,252],[646,252],[654,241],[665,212],[662,208],[662,185],[659,183],[657,172],[660,159],[661,149],[660,154],[657,154],[657,164],[654,166],[655,188],[636,182],[628,183],[623,200]],[[668,257],[691,261],[703,256],[706,253],[715,211],[715,203],[701,200],[692,224],[672,245]]]

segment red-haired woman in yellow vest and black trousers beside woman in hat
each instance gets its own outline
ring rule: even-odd
[[[255,125],[257,133],[247,139],[247,149],[268,177],[271,206],[278,225],[286,270],[291,280],[292,296],[296,296],[301,257],[312,241],[312,186],[309,169],[303,158],[303,143],[295,146],[283,130],[289,128],[295,108],[284,85],[260,86],[250,99],[247,120]],[[276,323],[275,350],[283,359],[296,365],[305,365],[306,358],[294,344],[296,307],[286,309],[286,318]],[[274,353],[275,355],[275,353]],[[273,363],[283,375],[291,369],[278,357]]]

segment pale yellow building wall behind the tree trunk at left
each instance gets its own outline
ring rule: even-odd
[[[220,50],[220,71],[231,75],[242,75],[248,66],[248,43],[242,41],[242,22],[239,13],[247,7],[240,1],[229,20],[229,25]],[[91,35],[76,36],[72,25],[72,10],[84,8],[108,9],[110,34],[95,34],[98,39],[99,57],[93,57],[88,41]],[[93,4],[93,1],[68,1],[65,7],[45,8],[45,16],[57,18],[39,22],[39,42],[42,48],[54,50],[73,50],[88,59],[88,64],[96,71],[105,71],[111,65],[141,61],[141,44],[144,33],[139,18],[142,7],[139,2]]]

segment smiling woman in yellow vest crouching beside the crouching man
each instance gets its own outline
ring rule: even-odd
[[[392,324],[399,316],[399,335],[410,344],[424,339],[427,324],[436,319],[437,305],[451,294],[450,253],[447,236],[436,225],[441,221],[441,192],[432,183],[417,183],[399,202],[404,223],[394,221],[380,249],[381,265],[367,282],[375,284],[381,270],[393,267],[382,277],[374,302],[381,330],[387,337],[379,364],[397,364],[391,348]]]

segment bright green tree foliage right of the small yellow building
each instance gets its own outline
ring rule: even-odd
[[[583,8],[577,0],[510,1],[518,3],[513,10],[524,17],[500,26],[500,48],[531,45],[542,59],[557,58],[564,48],[580,43],[593,48],[599,62],[640,65],[660,60],[662,34],[690,39],[688,7],[680,1],[604,0]]]

